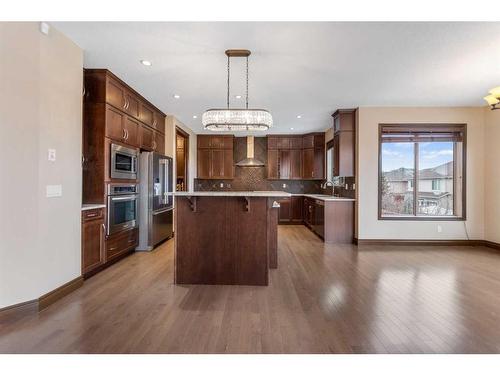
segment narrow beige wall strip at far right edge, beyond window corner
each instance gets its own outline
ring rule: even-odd
[[[485,240],[500,243],[500,111],[485,108]]]

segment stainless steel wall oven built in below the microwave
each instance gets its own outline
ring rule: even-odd
[[[108,185],[108,235],[138,225],[138,186],[126,184]]]

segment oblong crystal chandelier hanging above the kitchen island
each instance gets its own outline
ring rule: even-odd
[[[265,109],[249,109],[248,108],[248,50],[226,51],[227,56],[227,108],[226,109],[209,109],[203,113],[201,119],[203,127],[213,131],[252,131],[252,130],[268,130],[273,126],[273,117]],[[229,76],[230,76],[230,59],[231,57],[245,57],[246,66],[246,107],[229,108]]]

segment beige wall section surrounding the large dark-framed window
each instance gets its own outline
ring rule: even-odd
[[[467,124],[467,230],[472,239],[484,238],[484,108],[361,107],[358,119],[358,238],[465,239],[462,221],[378,220],[378,124]],[[496,130],[495,130],[496,131]],[[496,133],[497,135],[499,133]],[[498,138],[496,138],[498,139]],[[492,141],[491,141],[492,142]],[[498,151],[497,151],[497,155]],[[498,164],[497,164],[498,165]],[[498,180],[497,180],[498,182]],[[498,186],[498,185],[496,185]],[[500,202],[500,201],[499,201]],[[497,203],[498,204],[498,203]],[[496,211],[498,212],[498,210]],[[497,221],[498,222],[498,221]],[[438,233],[437,226],[442,232]],[[497,227],[498,228],[498,227]]]

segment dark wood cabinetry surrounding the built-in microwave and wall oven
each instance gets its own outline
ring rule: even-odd
[[[163,112],[109,70],[84,70],[84,204],[106,204],[109,184],[139,182],[111,177],[111,145],[165,154],[165,118]],[[131,253],[138,244],[137,228],[106,235],[106,211],[99,210],[99,218],[92,220],[88,211],[82,211],[85,277]]]

